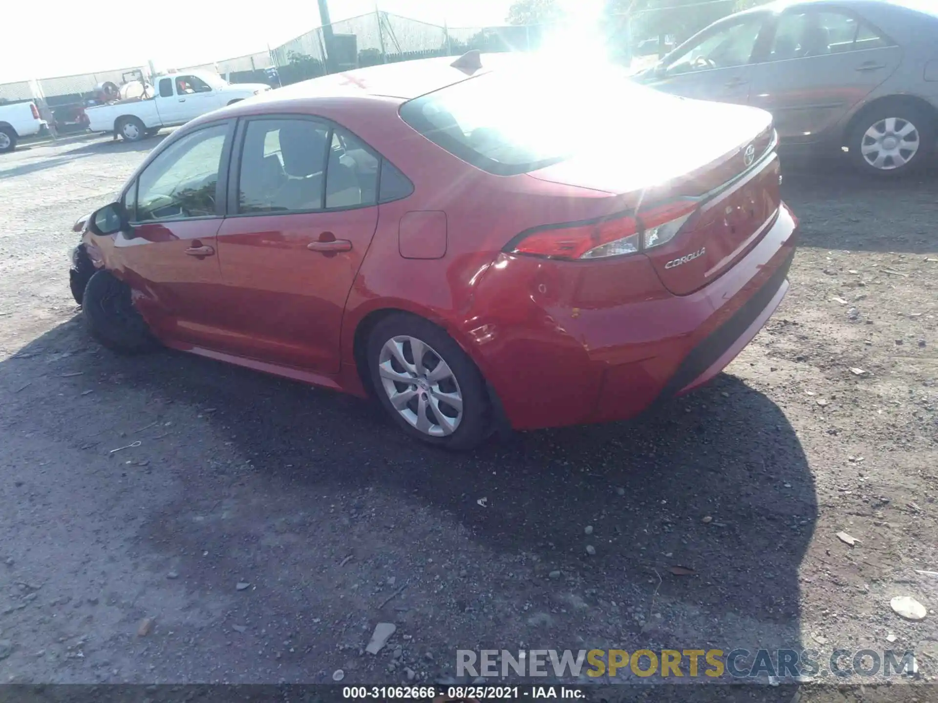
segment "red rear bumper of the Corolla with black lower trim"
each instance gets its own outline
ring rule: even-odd
[[[477,348],[477,359],[510,425],[628,419],[716,376],[779,307],[797,231],[783,204],[755,247],[697,292],[649,292],[643,300],[588,310],[552,301],[523,316],[515,312],[515,324],[526,327],[509,340],[504,322],[501,329],[485,325],[489,341]],[[536,325],[536,316],[547,323]]]

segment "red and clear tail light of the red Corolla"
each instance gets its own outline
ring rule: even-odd
[[[697,205],[694,199],[682,199],[638,214],[538,227],[515,237],[506,250],[569,261],[634,254],[670,242]]]

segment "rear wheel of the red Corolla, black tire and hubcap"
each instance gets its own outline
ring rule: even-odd
[[[444,330],[416,315],[394,313],[374,326],[367,345],[374,394],[404,432],[457,451],[486,439],[491,404],[485,380]],[[423,346],[419,364],[416,345]]]

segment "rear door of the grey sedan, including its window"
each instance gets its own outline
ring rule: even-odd
[[[750,68],[749,102],[775,117],[788,142],[821,138],[899,67],[896,42],[846,9],[789,7],[763,60]]]

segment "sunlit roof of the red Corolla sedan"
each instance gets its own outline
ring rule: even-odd
[[[296,100],[316,97],[397,97],[409,100],[467,78],[490,72],[512,61],[507,54],[481,54],[482,67],[472,73],[453,67],[456,56],[417,59],[333,73],[287,85],[257,99]]]

